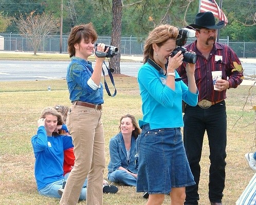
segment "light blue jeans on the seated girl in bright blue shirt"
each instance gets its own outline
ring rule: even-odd
[[[58,193],[58,190],[62,188],[63,181],[64,179],[59,181],[54,181],[53,183],[48,184],[46,187],[44,187],[39,191],[39,194],[43,196],[53,197],[53,198],[61,198],[61,196]],[[86,188],[82,188],[79,199],[80,200],[86,199]]]

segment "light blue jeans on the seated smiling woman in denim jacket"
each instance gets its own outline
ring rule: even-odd
[[[137,179],[123,170],[116,170],[108,173],[107,179],[116,183],[123,183],[125,185],[136,187]]]

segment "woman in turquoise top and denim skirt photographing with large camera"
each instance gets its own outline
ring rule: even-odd
[[[192,106],[197,104],[195,64],[187,64],[187,86],[176,72],[183,60],[181,51],[170,56],[176,49],[177,36],[178,29],[170,25],[152,30],[138,72],[143,119],[139,121],[142,131],[137,139],[137,192],[149,193],[147,205],[162,204],[166,194],[172,204],[183,205],[185,187],[195,184],[180,131],[184,125],[182,100]]]

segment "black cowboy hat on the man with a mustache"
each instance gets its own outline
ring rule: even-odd
[[[197,13],[195,16],[195,24],[190,24],[187,26],[189,29],[200,29],[200,28],[208,28],[208,29],[220,29],[224,26],[225,22],[220,21],[215,24],[215,19],[213,13],[210,11]]]

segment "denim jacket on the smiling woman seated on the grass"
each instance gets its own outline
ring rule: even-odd
[[[130,158],[127,159],[126,148],[122,133],[117,134],[109,141],[110,162],[108,164],[108,173],[116,171],[120,166],[130,172],[138,173],[138,156],[136,149],[136,140],[132,136]],[[136,155],[136,157],[135,157]]]

